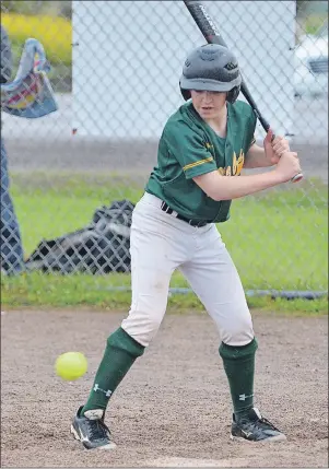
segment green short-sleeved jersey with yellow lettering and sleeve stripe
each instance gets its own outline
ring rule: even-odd
[[[184,104],[164,127],[157,166],[145,191],[187,219],[226,221],[231,200],[211,199],[192,178],[212,171],[238,176],[245,154],[255,142],[255,127],[256,116],[248,104],[227,103],[227,132],[223,139],[199,116],[191,102]]]

